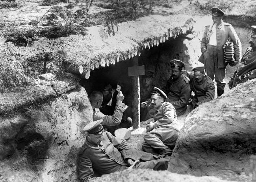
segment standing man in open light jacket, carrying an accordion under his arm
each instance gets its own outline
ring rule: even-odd
[[[234,43],[236,60],[230,63],[235,66],[241,60],[241,42],[231,24],[223,22],[225,13],[217,8],[211,8],[213,25],[206,26],[201,40],[202,55],[199,61],[204,64],[206,74],[217,83],[217,96],[224,93],[226,85],[224,78],[226,75],[227,63],[224,63],[223,45],[230,38]]]

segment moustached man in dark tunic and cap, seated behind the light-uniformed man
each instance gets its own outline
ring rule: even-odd
[[[168,96],[167,102],[176,109],[177,116],[184,114],[189,102],[190,86],[189,79],[182,75],[182,68],[185,64],[177,59],[171,62],[172,75],[165,86],[165,94]]]

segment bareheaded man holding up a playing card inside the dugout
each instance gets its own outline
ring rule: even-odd
[[[99,108],[102,105],[103,94],[100,91],[93,91],[90,95],[91,107],[93,108],[93,121],[103,119],[102,125],[104,126],[117,126],[120,125],[123,113],[127,106],[122,103],[124,95],[120,91],[116,96],[116,105],[113,115],[105,115],[100,112]],[[115,132],[115,131],[113,131]]]

